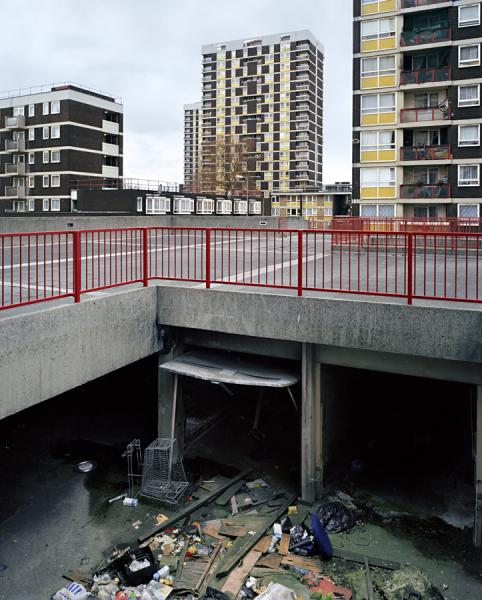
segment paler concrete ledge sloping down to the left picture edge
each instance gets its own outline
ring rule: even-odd
[[[158,351],[156,289],[0,321],[0,419]]]

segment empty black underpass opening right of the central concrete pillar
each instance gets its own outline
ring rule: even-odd
[[[325,367],[325,483],[380,516],[474,519],[471,386]]]

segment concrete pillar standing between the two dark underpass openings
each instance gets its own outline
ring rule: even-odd
[[[321,491],[320,364],[313,344],[303,343],[301,359],[301,497],[312,503]]]

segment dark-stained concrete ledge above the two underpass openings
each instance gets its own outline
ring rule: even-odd
[[[389,302],[158,287],[165,325],[356,350],[482,362],[482,312]]]

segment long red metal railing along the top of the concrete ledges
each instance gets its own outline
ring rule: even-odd
[[[335,219],[340,228],[332,230],[141,227],[3,234],[0,309],[68,296],[79,302],[88,292],[156,279],[296,290],[300,296],[309,290],[408,303],[482,302],[482,223],[458,221],[457,233],[443,231],[450,219],[347,217]]]

